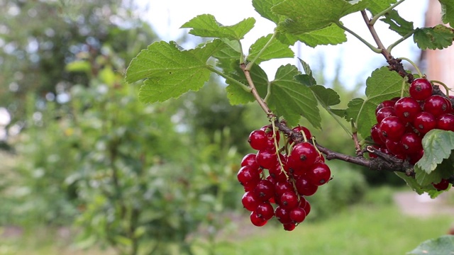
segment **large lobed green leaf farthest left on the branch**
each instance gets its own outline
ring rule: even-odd
[[[211,71],[206,61],[226,44],[207,42],[194,50],[180,50],[175,42],[154,42],[135,57],[126,70],[126,81],[146,79],[140,87],[139,100],[144,103],[165,101],[189,90],[198,90],[208,81]]]

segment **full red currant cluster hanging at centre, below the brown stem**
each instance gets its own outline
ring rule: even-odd
[[[311,139],[311,132],[302,126],[293,128],[292,132],[304,133],[306,140]],[[292,231],[311,211],[304,196],[313,195],[319,186],[327,183],[331,170],[310,142],[295,144],[289,140],[279,149],[279,139],[279,132],[272,125],[250,133],[250,147],[258,152],[243,157],[238,181],[244,187],[241,201],[251,212],[253,225],[261,227],[275,217],[285,230]],[[288,155],[281,150],[289,152]]]

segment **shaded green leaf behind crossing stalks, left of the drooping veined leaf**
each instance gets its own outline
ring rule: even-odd
[[[231,70],[233,70],[229,76],[233,79],[236,79],[243,84],[248,84],[244,72],[240,69],[240,64],[238,62],[231,62]],[[258,65],[254,64],[252,69],[250,69],[250,76],[254,81],[255,88],[258,91],[258,94],[265,98],[267,94],[267,86],[268,86],[268,77],[265,71]],[[226,91],[227,97],[230,101],[231,105],[235,106],[238,104],[245,104],[255,100],[251,93],[248,93],[244,89],[242,89],[238,84],[235,84],[230,81],[226,81],[228,84]]]

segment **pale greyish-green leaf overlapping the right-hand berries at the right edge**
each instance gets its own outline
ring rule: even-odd
[[[434,171],[443,159],[448,159],[454,149],[454,132],[431,130],[423,137],[423,157],[416,166],[426,173]]]

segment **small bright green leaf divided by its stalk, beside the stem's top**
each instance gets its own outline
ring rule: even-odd
[[[250,45],[248,60],[253,60],[271,38],[272,34],[261,37],[255,41],[253,45]],[[290,50],[289,45],[284,45],[282,42],[279,42],[279,40],[272,40],[270,45],[268,45],[265,51],[262,52],[258,60],[255,61],[255,64],[259,64],[260,62],[266,60],[284,57],[294,57],[293,50]]]

